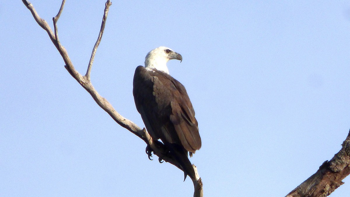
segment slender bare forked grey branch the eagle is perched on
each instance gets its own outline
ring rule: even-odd
[[[148,132],[146,131],[145,128],[141,129],[140,127],[138,127],[136,124],[134,124],[130,120],[121,116],[105,98],[103,98],[102,96],[100,96],[98,94],[98,92],[94,89],[94,87],[92,86],[92,83],[90,82],[90,73],[91,73],[92,63],[94,60],[94,56],[96,54],[97,47],[102,39],[102,34],[104,32],[107,14],[109,11],[109,7],[112,5],[112,2],[110,0],[107,0],[107,2],[105,4],[101,29],[100,29],[100,32],[98,35],[98,39],[93,47],[90,61],[89,61],[89,65],[87,67],[87,71],[86,71],[86,74],[84,76],[79,74],[79,72],[77,72],[77,70],[74,68],[74,66],[69,58],[68,52],[61,45],[61,43],[59,42],[59,39],[58,39],[57,21],[58,21],[59,17],[61,16],[61,13],[63,11],[65,0],[62,1],[61,7],[59,8],[57,15],[54,18],[52,18],[52,21],[54,24],[54,32],[52,32],[49,24],[44,19],[40,18],[38,13],[35,11],[33,5],[29,1],[22,0],[22,2],[29,9],[29,11],[33,15],[33,17],[34,17],[35,21],[38,23],[38,25],[48,33],[52,43],[54,43],[58,52],[62,56],[62,59],[65,63],[64,67],[66,68],[66,70],[92,96],[92,98],[98,104],[98,106],[100,106],[103,110],[105,110],[113,118],[113,120],[116,121],[119,125],[121,125],[122,127],[126,128],[127,130],[129,130],[130,132],[132,132],[133,134],[137,135],[142,140],[144,140],[145,143],[147,145],[149,145],[149,147],[152,148],[153,153],[155,155],[157,155],[159,158],[162,158],[162,160],[169,162],[169,163],[175,165],[177,168],[181,169],[179,162],[177,162],[176,159],[172,155],[169,155],[164,144],[162,144],[159,141],[153,141],[152,137],[148,134]],[[202,183],[200,176],[198,175],[197,168],[194,165],[193,165],[193,167],[194,167],[195,172],[196,172],[196,178],[192,179],[193,184],[194,184],[194,197],[202,197],[203,196],[203,183]]]

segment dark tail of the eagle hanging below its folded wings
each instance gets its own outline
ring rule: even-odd
[[[170,148],[170,152],[174,155],[177,162],[179,162],[183,172],[184,179],[186,180],[187,175],[191,177],[191,179],[195,178],[195,170],[192,167],[192,163],[188,159],[188,152],[184,148],[180,147],[177,144],[168,144]]]

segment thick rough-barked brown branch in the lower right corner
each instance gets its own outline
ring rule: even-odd
[[[297,186],[286,197],[325,197],[330,195],[350,174],[350,131],[342,149],[330,161],[325,161],[315,174]]]

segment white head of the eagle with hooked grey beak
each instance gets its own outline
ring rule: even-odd
[[[145,67],[148,69],[156,69],[169,74],[167,62],[169,60],[180,60],[182,56],[167,47],[158,47],[151,50],[145,58]]]

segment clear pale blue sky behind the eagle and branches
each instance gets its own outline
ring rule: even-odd
[[[31,1],[52,28],[61,1]],[[153,48],[183,56],[205,196],[285,196],[341,149],[350,128],[350,1],[112,1],[91,81],[144,127],[132,96]],[[86,72],[105,1],[67,0],[59,39]],[[149,161],[64,69],[21,1],[0,4],[0,196],[193,196]],[[331,194],[348,196],[349,177]]]

